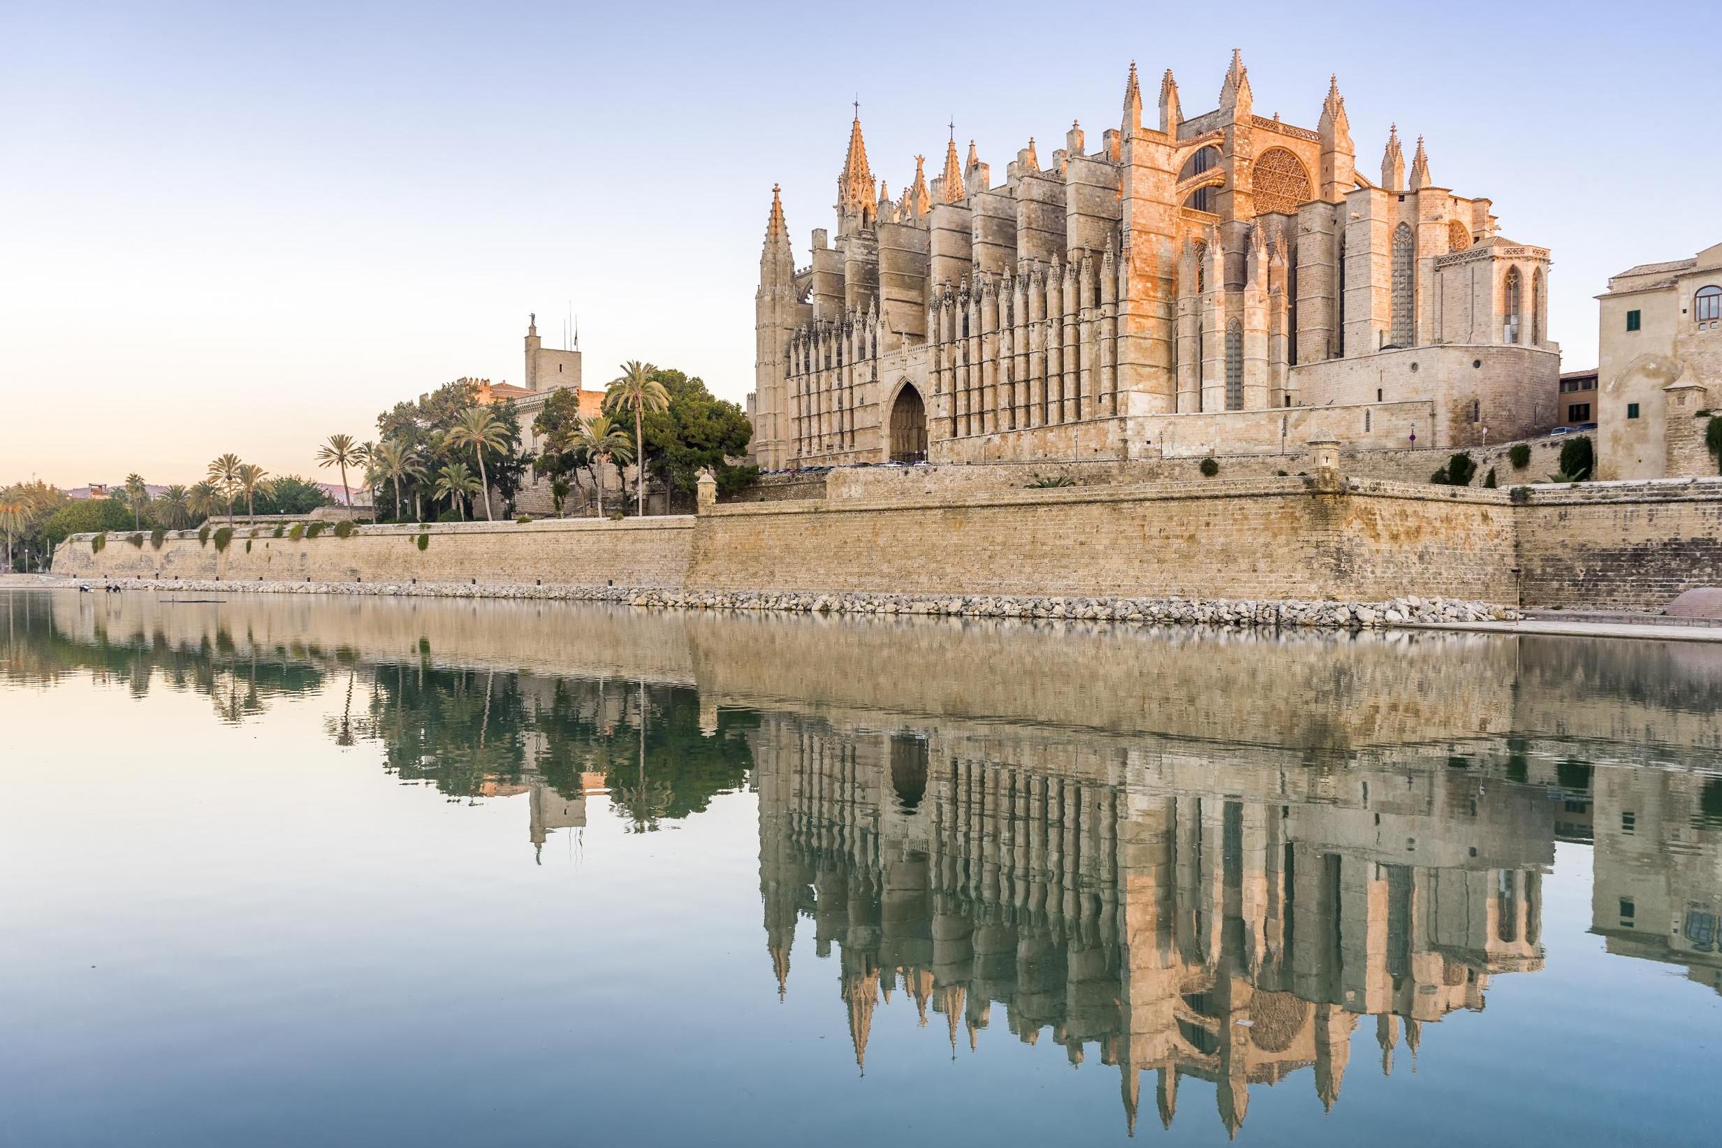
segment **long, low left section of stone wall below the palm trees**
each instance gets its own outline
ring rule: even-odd
[[[234,530],[226,551],[214,532],[176,532],[157,549],[143,534],[112,532],[100,552],[91,535],[67,539],[55,573],[107,578],[227,578],[308,582],[522,582],[678,587],[687,577],[692,516],[646,520],[541,520],[436,527],[362,527],[348,539],[274,537],[270,528]],[[425,539],[424,549],[418,540]]]

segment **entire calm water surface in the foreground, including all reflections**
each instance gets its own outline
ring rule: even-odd
[[[0,601],[5,1145],[1715,1136],[1719,647]]]

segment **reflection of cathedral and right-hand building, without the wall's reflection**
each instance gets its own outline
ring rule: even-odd
[[[1722,991],[1715,776],[816,718],[766,719],[754,766],[778,991],[797,933],[835,947],[863,1069],[902,991],[954,1053],[997,1003],[1018,1040],[1116,1065],[1131,1129],[1145,1072],[1168,1126],[1192,1076],[1231,1133],[1254,1084],[1300,1069],[1331,1108],[1359,1024],[1391,1072],[1424,1024],[1483,1010],[1491,976],[1543,967],[1543,873],[1557,836],[1589,833],[1608,948]]]

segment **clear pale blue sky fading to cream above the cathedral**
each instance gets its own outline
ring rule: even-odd
[[[1722,48],[1703,3],[0,5],[0,482],[201,475],[460,375],[522,380],[579,312],[625,358],[740,399],[771,184],[808,262],[861,100],[894,194],[945,122],[1002,179],[1071,119],[1116,126],[1130,60],[1314,127],[1328,74],[1359,167],[1388,122],[1434,182],[1553,248],[1564,368],[1610,274],[1722,239]],[[1305,17],[1300,17],[1305,14]]]

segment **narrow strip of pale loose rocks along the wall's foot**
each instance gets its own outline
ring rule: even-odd
[[[365,594],[381,597],[503,597],[616,602],[658,609],[782,611],[813,614],[926,614],[947,618],[1062,618],[1147,625],[1379,628],[1467,621],[1515,621],[1507,606],[1443,597],[1386,602],[1212,601],[1190,597],[1049,597],[975,594],[816,594],[754,590],[661,590],[615,585],[518,585],[484,582],[220,582],[214,578],[77,578],[103,590],[176,594]]]

